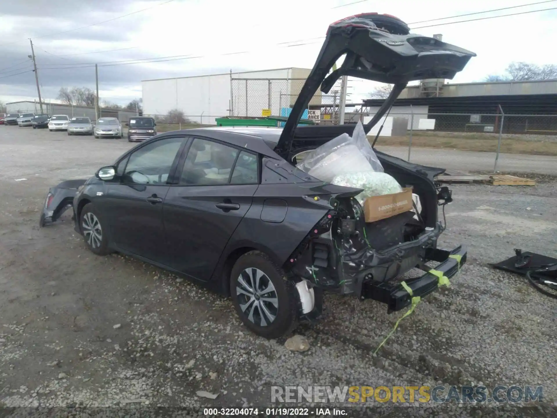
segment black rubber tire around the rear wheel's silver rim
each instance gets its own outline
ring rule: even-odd
[[[260,270],[265,275],[265,277],[261,276],[261,281],[259,283],[260,288],[257,290],[262,290],[262,287],[263,289],[268,288],[269,282],[272,283],[274,288],[273,291],[266,294],[265,299],[270,300],[270,298],[275,299],[276,297],[278,300],[278,308],[268,302],[265,302],[266,305],[264,306],[267,312],[270,310],[271,314],[275,315],[275,318],[272,320],[270,320],[268,315],[263,315],[261,313],[259,306],[263,304],[263,301],[260,300],[260,293],[257,290],[255,290],[257,299],[248,298],[247,295],[242,293],[240,295],[237,294],[237,288],[242,286],[238,282],[238,279],[242,275],[243,280],[250,280],[245,270],[253,271],[252,269]],[[253,285],[253,283],[251,284]],[[236,261],[230,277],[230,294],[232,295],[232,302],[236,308],[238,317],[240,317],[247,328],[258,336],[279,338],[289,334],[296,328],[300,312],[300,298],[296,286],[290,280],[286,279],[284,271],[275,265],[265,253],[261,251],[250,251],[242,255],[238,261]],[[246,305],[246,300],[252,300],[252,302],[247,305],[246,311],[251,311],[251,316],[254,318],[254,321],[252,321],[249,318],[249,314],[244,313],[240,307],[241,304]],[[257,303],[260,305],[255,305]],[[253,305],[255,305],[255,308],[253,308]],[[261,317],[265,320],[265,325],[262,324]]]

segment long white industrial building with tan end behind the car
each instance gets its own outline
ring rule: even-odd
[[[203,124],[215,124],[222,116],[262,116],[264,109],[280,115],[294,103],[310,71],[290,67],[143,80],[143,114],[166,115],[178,109]],[[319,92],[311,104],[320,103]]]

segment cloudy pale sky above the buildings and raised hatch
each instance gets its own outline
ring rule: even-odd
[[[60,87],[94,89],[97,62],[101,100],[125,105],[141,97],[141,80],[219,74],[231,69],[311,68],[323,42],[314,38],[324,36],[329,23],[350,14],[389,13],[412,23],[535,2],[393,0],[343,6],[355,1],[25,0],[9,7],[4,4],[0,14],[0,100],[37,98],[32,62],[27,57],[31,54],[28,38],[35,45],[43,99],[55,99]],[[557,7],[557,1],[410,26],[551,7]],[[145,8],[149,9],[138,12]],[[134,14],[118,18],[128,13]],[[511,61],[557,64],[553,42],[556,27],[557,10],[553,10],[412,32],[427,36],[442,33],[443,41],[476,52],[477,57],[452,81],[470,82],[502,73]],[[308,44],[299,45],[305,42]],[[114,62],[170,56],[191,58],[126,65]],[[350,100],[361,101],[372,88],[368,82],[351,81]]]

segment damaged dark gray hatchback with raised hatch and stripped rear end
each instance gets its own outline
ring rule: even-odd
[[[343,64],[331,71],[341,56]],[[51,189],[41,223],[55,220],[71,199],[75,230],[92,252],[129,254],[229,295],[242,322],[266,338],[319,318],[325,291],[377,300],[389,312],[403,309],[412,296],[432,293],[440,278],[455,275],[466,262],[462,246],[437,248],[444,230],[438,208],[452,200],[451,191],[435,181],[444,169],[363,145],[378,164],[368,177],[380,172],[378,178],[412,196],[400,206],[402,213],[368,221],[368,201],[361,200],[366,187],[340,186],[305,170],[306,159],[319,157],[328,143],[343,135],[353,140],[355,125],[299,121],[317,89],[328,93],[343,75],[393,84],[377,114],[358,128],[365,137],[409,81],[452,79],[472,56],[412,35],[392,16],[345,18],[330,25],[284,129],[157,135],[75,183],[73,193]],[[302,153],[312,157],[298,161]],[[399,208],[398,203],[379,209]],[[433,269],[426,265],[431,262]],[[400,277],[414,268],[423,274],[402,285]]]

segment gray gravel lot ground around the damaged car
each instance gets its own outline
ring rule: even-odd
[[[128,147],[125,140],[0,127],[0,406],[261,407],[270,406],[271,386],[483,384],[543,385],[544,402],[473,410],[375,403],[372,411],[555,414],[555,300],[488,266],[515,247],[556,256],[553,178],[536,187],[452,186],[441,244],[468,246],[468,263],[452,285],[422,300],[377,356],[402,313],[328,295],[323,320],[297,330],[311,346],[298,353],[284,339],[248,332],[226,298],[128,257],[91,254],[69,213],[38,228],[49,186],[89,176]],[[200,390],[218,397],[198,397]]]

